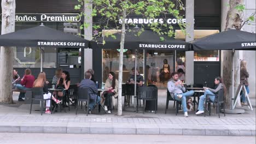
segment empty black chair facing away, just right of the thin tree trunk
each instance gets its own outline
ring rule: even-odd
[[[157,95],[155,95],[156,88],[154,87],[139,87],[138,88],[138,98],[137,98],[137,112],[138,112],[138,100],[143,100],[143,114],[145,113],[146,100],[154,100],[155,101],[155,113],[156,113],[156,105],[157,105]]]

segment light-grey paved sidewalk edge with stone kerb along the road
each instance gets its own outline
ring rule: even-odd
[[[0,116],[0,132],[255,136],[255,119]]]

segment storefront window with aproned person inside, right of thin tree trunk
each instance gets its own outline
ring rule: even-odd
[[[148,71],[148,84],[154,84],[157,87],[167,87],[167,82],[174,71],[174,54],[174,51],[148,51],[146,67]]]

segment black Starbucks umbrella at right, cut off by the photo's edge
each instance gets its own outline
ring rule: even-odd
[[[230,29],[190,42],[192,50],[256,50],[256,34]]]

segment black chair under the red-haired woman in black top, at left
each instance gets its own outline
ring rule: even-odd
[[[43,92],[43,88],[42,87],[33,87],[32,88],[32,99],[31,99],[31,105],[30,105],[30,114],[31,114],[31,110],[32,110],[32,104],[33,101],[40,101],[41,105],[41,116],[43,115],[43,108],[44,108],[44,101],[45,100],[51,100],[50,99],[44,99],[44,92]],[[51,110],[51,104],[50,104],[50,110]]]

